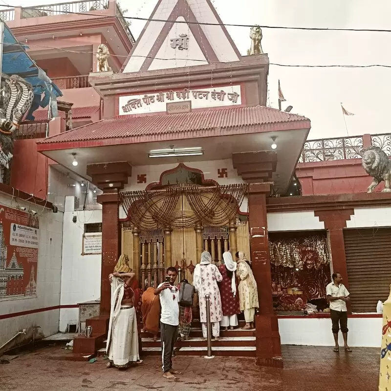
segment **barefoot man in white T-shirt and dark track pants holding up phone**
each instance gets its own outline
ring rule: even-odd
[[[160,340],[162,346],[163,377],[175,380],[177,374],[182,372],[173,369],[173,351],[178,335],[179,325],[179,290],[175,286],[176,269],[169,267],[165,282],[155,289],[155,295],[159,295],[161,305],[160,315]]]

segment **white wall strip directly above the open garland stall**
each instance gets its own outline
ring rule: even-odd
[[[314,211],[281,212],[267,214],[267,230],[274,231],[310,231],[325,229],[325,223],[319,221]]]

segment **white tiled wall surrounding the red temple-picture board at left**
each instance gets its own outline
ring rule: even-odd
[[[0,193],[0,204],[14,208],[15,199]],[[28,202],[18,199],[21,207],[29,208]],[[36,207],[34,208],[36,209]],[[27,329],[27,336],[19,336],[15,342],[21,343],[31,337],[32,326],[40,326],[38,334],[48,336],[58,332],[60,287],[61,287],[61,252],[63,239],[63,213],[53,213],[51,209],[40,213],[40,237],[38,248],[37,296],[28,299],[2,300],[0,315],[14,314],[23,311],[41,310],[22,316],[14,316],[0,320],[0,345],[12,338],[23,328]],[[57,307],[52,310],[45,308]],[[11,345],[9,346],[11,347]]]

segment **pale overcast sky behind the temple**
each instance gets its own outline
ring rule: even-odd
[[[15,3],[16,1],[17,3]],[[390,0],[211,0],[223,23],[295,27],[390,29]],[[33,0],[0,0],[0,4],[35,5]],[[39,0],[37,4],[61,3]],[[119,0],[126,16],[150,17],[157,0]],[[131,21],[137,39],[145,22]],[[248,27],[227,30],[246,55]],[[390,68],[301,68],[283,65],[391,66],[391,33],[304,31],[263,28],[268,53],[268,105],[278,107],[278,80],[293,113],[311,120],[309,139],[390,132]],[[341,102],[354,116],[344,117]]]

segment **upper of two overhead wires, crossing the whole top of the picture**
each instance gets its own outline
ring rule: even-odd
[[[16,8],[14,5],[10,5],[4,3],[4,6],[9,8]],[[47,8],[40,8],[43,7],[23,7],[24,9],[34,9],[37,11],[42,12],[55,12],[56,14],[75,14],[75,15],[81,15],[81,12],[72,12],[72,11],[64,11],[64,10],[48,10]],[[101,10],[96,10],[101,11]],[[165,19],[154,19],[154,18],[141,18],[137,16],[110,16],[110,15],[99,15],[99,14],[93,14],[89,12],[83,12],[83,15],[86,16],[99,16],[102,18],[117,18],[117,19],[130,19],[130,20],[137,20],[137,21],[145,21],[145,22],[169,22],[169,23],[185,23],[185,24],[198,24],[198,25],[205,25],[205,26],[226,26],[226,27],[253,27],[254,24],[236,24],[236,23],[209,23],[209,22],[190,22],[190,21],[174,21],[174,20],[165,20]],[[371,29],[371,28],[327,28],[327,27],[294,27],[294,26],[269,26],[269,25],[260,25],[261,28],[270,28],[270,29],[286,29],[286,30],[307,30],[307,31],[353,31],[353,32],[374,32],[374,33],[391,33],[391,30],[386,29]]]

